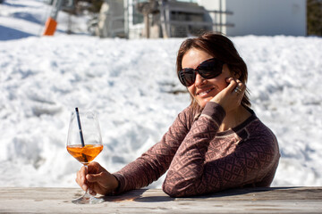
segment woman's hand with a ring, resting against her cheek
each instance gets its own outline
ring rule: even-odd
[[[228,86],[212,98],[210,102],[220,104],[227,113],[241,105],[246,86],[236,78],[226,78],[226,81]]]

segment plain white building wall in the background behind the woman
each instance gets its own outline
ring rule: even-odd
[[[306,36],[306,0],[199,0],[208,10],[233,12],[224,20],[234,27],[223,29],[228,36]],[[215,8],[214,8],[215,6]]]

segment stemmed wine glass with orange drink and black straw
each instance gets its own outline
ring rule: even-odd
[[[67,137],[67,151],[77,161],[80,161],[88,171],[88,164],[93,161],[99,152],[103,150],[102,136],[98,124],[96,111],[79,111],[75,108],[72,112]],[[88,193],[84,193],[73,203],[88,204],[103,202]]]

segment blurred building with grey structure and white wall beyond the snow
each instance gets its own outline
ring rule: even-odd
[[[99,37],[306,36],[306,0],[106,0]]]

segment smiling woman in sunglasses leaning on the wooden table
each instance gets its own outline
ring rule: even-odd
[[[147,186],[166,170],[163,190],[173,197],[271,184],[280,157],[277,140],[250,110],[247,67],[233,43],[213,33],[185,40],[177,73],[191,105],[159,143],[120,171],[110,174],[97,162],[89,164],[87,175],[80,169],[76,182],[84,190],[123,193]]]

